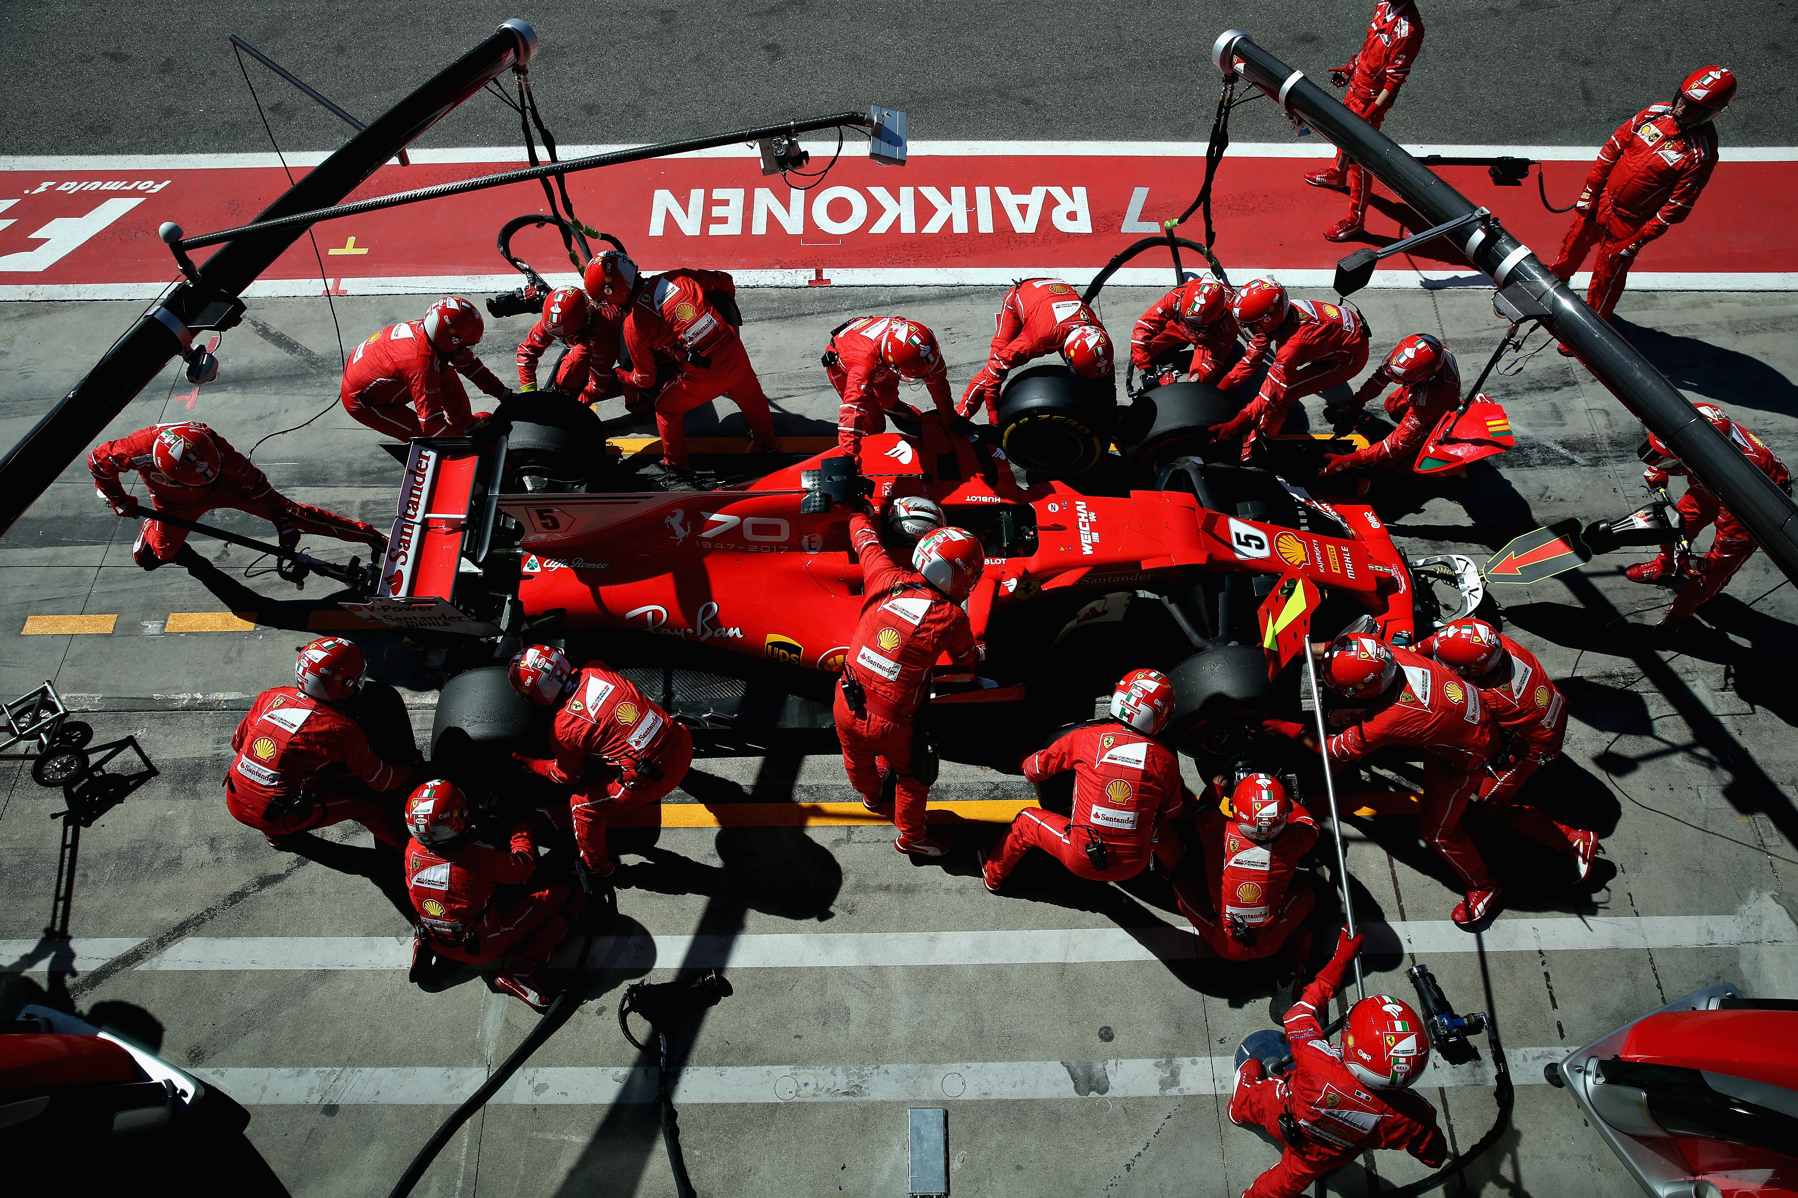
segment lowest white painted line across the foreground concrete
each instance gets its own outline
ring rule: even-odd
[[[1516,1085],[1544,1085],[1543,1065],[1575,1045],[1509,1049]],[[1485,1051],[1482,1047],[1482,1058]],[[250,1106],[451,1106],[485,1079],[485,1069],[194,1069]],[[1228,1056],[1111,1061],[957,1061],[946,1065],[719,1065],[689,1067],[676,1103],[940,1103],[1054,1097],[1190,1097],[1228,1094]],[[1431,1061],[1417,1083],[1491,1087],[1492,1067]],[[521,1069],[493,1103],[502,1106],[610,1106],[656,1101],[654,1069]]]

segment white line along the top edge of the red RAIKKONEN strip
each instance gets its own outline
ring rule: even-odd
[[[829,133],[807,135],[827,140]],[[640,142],[647,144],[647,142]],[[635,145],[557,145],[566,162],[592,154],[611,154]],[[1534,158],[1537,162],[1591,162],[1597,145],[1435,145],[1411,144],[1402,147],[1419,158],[1444,154],[1449,158]],[[1203,158],[1205,142],[912,142],[913,158]],[[1336,147],[1320,137],[1298,142],[1232,142],[1232,158],[1327,158]],[[410,149],[406,154],[421,165],[491,162],[525,162],[518,145],[464,145],[441,149]],[[331,151],[300,151],[288,154],[291,167],[316,167]],[[755,158],[753,145],[721,145],[678,158]],[[1722,145],[1722,162],[1794,162],[1793,145]],[[280,160],[271,153],[248,154],[0,154],[0,171],[219,171],[219,169],[273,169]],[[405,178],[401,169],[399,178]]]

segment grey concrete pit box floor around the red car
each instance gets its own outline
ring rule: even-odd
[[[1108,291],[1104,316],[1122,332],[1151,298],[1149,291]],[[1464,372],[1483,361],[1501,330],[1480,289],[1374,291],[1359,300],[1381,348],[1413,329],[1440,330],[1460,352]],[[984,354],[994,302],[996,293],[976,289],[750,291],[743,296],[744,336],[780,413],[779,431],[816,433],[834,418],[816,354],[843,316],[903,311],[930,323],[960,384]],[[345,339],[417,307],[419,300],[405,296],[338,302]],[[137,311],[126,304],[0,311],[0,440],[20,436],[41,413],[45,395],[59,393]],[[1787,460],[1798,460],[1798,302],[1784,295],[1625,295],[1620,314],[1629,336],[1690,395],[1722,402]],[[192,388],[171,372],[146,388],[108,435],[191,411],[248,449],[264,433],[329,404],[338,347],[325,305],[261,300],[250,318],[227,336],[221,379],[203,388],[191,410],[185,397]],[[521,320],[496,322],[487,361],[503,366],[523,329]],[[1607,517],[1638,501],[1634,424],[1579,366],[1550,348],[1491,390],[1507,404],[1519,447],[1500,469],[1474,471],[1465,483],[1381,499],[1401,546],[1483,559],[1516,532],[1564,515]],[[741,427],[741,417],[723,410],[723,431]],[[692,420],[696,433],[705,431],[703,411]],[[263,445],[257,462],[288,494],[378,523],[390,512],[399,474],[376,438],[334,408],[304,433]],[[68,927],[77,945],[86,938],[126,943],[81,965],[74,977],[0,975],[0,1017],[49,986],[52,999],[67,993],[83,1009],[97,1002],[140,1008],[160,1024],[162,1053],[185,1067],[239,1081],[270,1076],[254,1070],[298,1070],[298,1083],[295,1074],[280,1074],[289,1087],[282,1103],[252,1108],[252,1142],[295,1194],[379,1193],[448,1114],[448,1106],[396,1103],[394,1094],[383,1099],[379,1087],[423,1085],[457,1097],[469,1088],[444,1074],[421,1081],[392,1070],[480,1076],[518,1044],[532,1017],[478,982],[423,993],[394,968],[138,968],[155,966],[164,948],[189,945],[198,952],[194,945],[207,938],[239,966],[257,954],[297,950],[289,938],[306,938],[307,947],[324,943],[316,938],[365,938],[354,945],[385,943],[397,952],[406,920],[367,876],[271,853],[219,801],[218,780],[239,709],[250,693],[289,677],[293,645],[304,634],[259,627],[146,636],[144,621],[171,612],[259,607],[252,595],[293,600],[293,593],[271,578],[245,580],[245,555],[218,553],[216,542],[196,542],[219,560],[223,573],[207,577],[212,589],[174,568],[146,575],[129,564],[129,535],[126,523],[95,503],[77,465],[0,541],[7,582],[0,593],[0,695],[56,679],[65,693],[81,697],[77,704],[95,708],[85,717],[95,726],[95,742],[135,736],[164,771],[81,837]],[[1597,828],[1607,853],[1591,893],[1580,893],[1559,880],[1559,862],[1501,830],[1476,826],[1489,859],[1512,882],[1510,909],[1487,943],[1530,920],[1561,920],[1555,927],[1573,936],[1544,936],[1535,950],[1420,956],[1462,1009],[1498,1015],[1514,1051],[1571,1051],[1715,981],[1733,981],[1751,995],[1798,993],[1798,905],[1787,880],[1798,869],[1791,801],[1798,706],[1789,684],[1798,665],[1798,596],[1787,587],[1749,607],[1748,600],[1780,582],[1757,555],[1706,609],[1708,623],[1694,623],[1681,638],[1679,652],[1652,652],[1638,627],[1654,620],[1652,611],[1616,623],[1620,614],[1665,600],[1622,580],[1618,571],[1629,560],[1627,553],[1602,557],[1575,575],[1501,596],[1510,629],[1541,654],[1571,702],[1553,803],[1573,823]],[[304,598],[322,600],[318,591],[313,584]],[[81,612],[119,616],[113,634],[14,636],[29,614]],[[390,636],[358,639],[369,647],[374,672],[408,693],[415,722],[426,729],[432,657]],[[714,794],[741,787],[759,801],[850,797],[836,785],[831,758],[714,758],[698,769],[717,780]],[[59,823],[50,815],[63,801],[58,790],[36,787],[23,767],[9,763],[5,771],[0,938],[13,941],[9,961],[41,961],[45,950],[36,945],[58,876]],[[1027,797],[1016,778],[973,767],[946,767],[944,787],[957,797]],[[770,934],[820,945],[814,938],[845,932],[1003,939],[1007,932],[1084,929],[1099,938],[1122,927],[1153,938],[1156,927],[1181,925],[1165,891],[1088,887],[1046,864],[1021,873],[1007,896],[989,896],[975,878],[976,835],[955,835],[958,851],[946,864],[910,866],[888,848],[883,828],[626,833],[620,846],[651,855],[626,857],[638,885],[620,893],[624,930],[716,934],[746,952],[743,938]],[[365,833],[333,839],[343,844],[338,866],[369,864]],[[1397,817],[1354,826],[1350,873],[1363,920],[1446,921],[1455,902],[1444,868],[1415,841],[1413,824]],[[1661,916],[1739,916],[1731,927],[1758,929],[1755,938],[1775,943],[1667,947],[1687,941],[1651,932],[1647,947],[1566,947],[1584,943],[1579,921]],[[138,939],[149,943],[128,952]],[[868,952],[877,954],[879,943]],[[665,950],[669,956],[654,963],[656,979],[667,979],[676,965],[678,948]],[[29,965],[20,961],[20,968]],[[1410,959],[1392,952],[1375,957],[1372,984],[1410,997],[1399,973],[1404,965]],[[597,1000],[532,1065],[586,1067],[597,1078],[640,1065],[611,1017],[619,988],[638,972],[601,975]],[[1215,963],[899,966],[863,957],[793,968],[726,965],[726,972],[737,995],[701,1024],[689,1067],[716,1067],[719,1078],[732,1067],[780,1067],[795,1083],[780,1090],[777,1079],[761,1101],[681,1108],[689,1167],[701,1193],[903,1193],[908,1105],[948,1106],[957,1194],[1235,1194],[1277,1155],[1223,1121],[1223,1099],[1181,1092],[1174,1069],[1181,1058],[1228,1054],[1242,1035],[1268,1026],[1264,991]],[[829,1067],[955,1061],[971,1067],[948,1072],[975,1087],[982,1076],[976,1067],[994,1061],[1039,1061],[1064,1083],[1055,1097],[957,1101],[926,1092],[910,1101],[832,1101],[827,1094],[809,1097],[809,1083],[798,1081]],[[1124,1067],[1106,1061],[1160,1061],[1149,1076],[1160,1074],[1163,1085],[1131,1088]],[[333,1072],[338,1069],[349,1072]],[[1196,1065],[1185,1069],[1190,1083]],[[1519,1063],[1518,1079],[1534,1081],[1535,1069]],[[313,1085],[311,1097],[297,1101],[293,1085],[302,1092]],[[1491,1123],[1491,1099],[1480,1088],[1426,1094],[1458,1146]],[[1420,1173],[1393,1153],[1381,1153],[1375,1167],[1388,1182]],[[1356,1167],[1338,1176],[1331,1193],[1365,1189]],[[672,1182],[651,1106],[507,1101],[467,1124],[421,1193],[660,1196],[672,1193]],[[1566,1094],[1523,1085],[1514,1130],[1474,1166],[1465,1189],[1447,1193],[1622,1198],[1636,1191]]]

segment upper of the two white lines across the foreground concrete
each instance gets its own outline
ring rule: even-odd
[[[1363,925],[1370,952],[1424,957],[1474,952],[1593,952],[1609,948],[1733,948],[1798,945],[1791,925],[1748,916],[1647,916],[1591,920],[1500,920],[1482,938],[1447,920]],[[135,943],[135,941],[129,941]],[[557,965],[572,966],[581,941],[563,943]],[[870,968],[1099,965],[1208,959],[1190,929],[1055,929],[1014,932],[775,932],[755,936],[597,936],[590,968]],[[403,970],[410,938],[295,936],[205,938],[171,945],[140,970]]]

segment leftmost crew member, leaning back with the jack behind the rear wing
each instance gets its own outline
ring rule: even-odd
[[[275,537],[289,548],[302,533],[316,533],[360,541],[376,555],[387,553],[387,537],[369,524],[295,503],[275,490],[263,471],[205,424],[155,424],[106,442],[88,454],[88,471],[101,501],[117,515],[142,510],[119,481],[126,471],[137,471],[149,490],[153,512],[196,521],[214,508],[236,508],[270,521]],[[131,559],[144,569],[156,569],[173,562],[185,544],[185,528],[151,514],[138,528]]]

